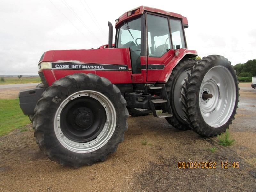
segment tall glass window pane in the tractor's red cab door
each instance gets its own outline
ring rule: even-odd
[[[161,57],[171,48],[168,19],[147,14],[148,54],[150,57]]]

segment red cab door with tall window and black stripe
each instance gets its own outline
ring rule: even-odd
[[[169,18],[146,13],[147,82],[156,82],[165,65],[173,58]]]

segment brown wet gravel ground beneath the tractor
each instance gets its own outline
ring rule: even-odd
[[[129,117],[125,140],[105,162],[62,167],[36,145],[31,124],[0,137],[0,191],[255,191],[256,90],[240,84],[240,103],[230,134],[233,146],[218,145],[165,119]],[[146,141],[146,145],[141,142]],[[210,148],[216,147],[212,153]],[[216,169],[179,169],[178,162],[217,162]],[[240,163],[221,169],[220,162]]]

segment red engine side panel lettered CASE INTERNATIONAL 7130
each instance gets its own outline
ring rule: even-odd
[[[94,73],[107,78],[113,84],[132,83],[128,48],[47,51],[40,62],[51,62],[51,69],[39,71],[43,72],[49,86],[54,81],[74,73]]]

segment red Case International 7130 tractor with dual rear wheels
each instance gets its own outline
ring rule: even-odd
[[[51,160],[74,167],[104,161],[124,140],[129,114],[152,112],[206,137],[225,132],[236,114],[236,72],[220,55],[193,59],[186,17],[135,8],[116,19],[114,47],[108,26],[105,47],[45,52],[38,64],[42,83],[19,93],[36,142]]]

